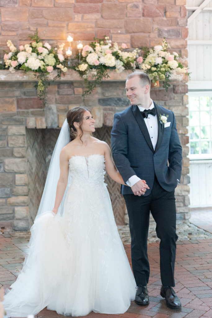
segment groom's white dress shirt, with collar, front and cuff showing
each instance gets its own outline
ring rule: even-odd
[[[145,109],[152,109],[154,108],[154,103],[153,100],[151,99],[152,104],[149,108],[143,108],[138,106],[140,111],[144,111]],[[148,132],[149,132],[149,136],[152,142],[152,146],[153,149],[155,149],[156,147],[156,143],[158,140],[158,119],[157,119],[157,114],[155,116],[153,115],[148,115],[148,118],[144,118],[145,124],[147,126]],[[141,180],[138,176],[133,175],[131,176],[128,180],[127,180],[127,185],[132,187],[136,182],[138,182],[139,180]]]

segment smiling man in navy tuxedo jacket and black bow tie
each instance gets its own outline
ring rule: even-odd
[[[151,211],[157,237],[161,239],[161,296],[169,308],[180,308],[172,287],[178,239],[174,189],[180,183],[182,148],[174,113],[151,100],[150,87],[151,81],[145,73],[134,72],[127,77],[126,94],[131,107],[114,115],[112,153],[128,185],[121,186],[121,194],[129,215],[132,266],[137,284],[135,302],[149,303],[147,236]]]

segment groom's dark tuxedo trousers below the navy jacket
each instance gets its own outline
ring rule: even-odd
[[[131,234],[131,258],[137,286],[146,286],[149,280],[147,237],[150,211],[156,222],[156,234],[160,242],[161,282],[174,287],[174,262],[176,255],[176,207],[174,190],[164,190],[155,176],[148,196],[125,194]]]

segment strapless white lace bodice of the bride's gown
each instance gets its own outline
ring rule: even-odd
[[[105,158],[103,155],[73,156],[69,159],[71,183],[96,185],[104,184]]]

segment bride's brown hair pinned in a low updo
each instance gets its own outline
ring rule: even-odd
[[[85,111],[88,111],[91,113],[90,109],[86,107],[73,107],[71,108],[68,113],[66,114],[69,129],[70,129],[70,138],[71,140],[75,139],[77,137],[77,129],[74,127],[74,122],[79,123],[79,129],[81,130],[80,134],[80,140],[83,135],[83,130],[81,128],[82,122],[83,122],[83,114]]]

